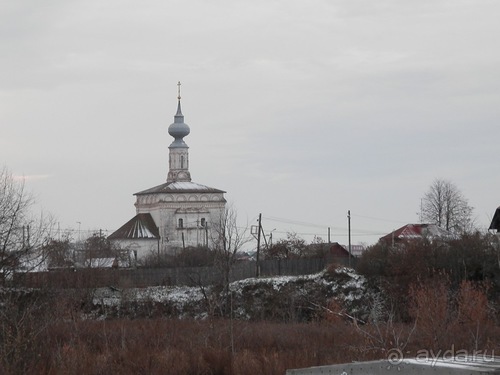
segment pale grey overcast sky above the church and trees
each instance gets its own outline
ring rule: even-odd
[[[374,243],[436,178],[500,205],[500,1],[0,0],[0,164],[61,228],[111,233],[168,172],[241,225]],[[81,224],[77,224],[80,222]],[[306,225],[299,225],[306,224]]]

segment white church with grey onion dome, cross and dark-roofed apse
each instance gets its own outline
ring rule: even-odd
[[[180,82],[174,122],[168,133],[174,141],[169,149],[167,181],[135,193],[136,215],[109,236],[136,258],[150,254],[175,254],[188,246],[210,246],[211,227],[224,212],[225,191],[191,181],[190,133],[181,111]]]

